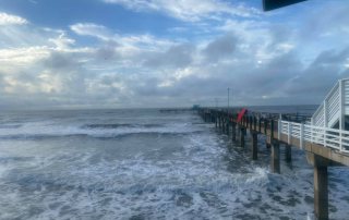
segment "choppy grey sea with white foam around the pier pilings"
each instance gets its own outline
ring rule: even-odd
[[[304,152],[279,175],[258,145],[252,161],[192,112],[2,112],[0,219],[312,219]],[[348,219],[347,168],[329,192],[330,218]]]

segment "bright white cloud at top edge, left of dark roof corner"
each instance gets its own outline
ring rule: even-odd
[[[242,17],[256,16],[256,9],[243,4],[232,4],[220,0],[104,0],[135,11],[158,11],[169,16],[197,22],[202,19],[219,20],[219,15],[229,14]]]

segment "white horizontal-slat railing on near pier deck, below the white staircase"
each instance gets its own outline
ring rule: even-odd
[[[278,121],[278,138],[280,139],[280,135],[286,135],[289,144],[291,144],[291,138],[297,138],[300,142],[299,146],[301,149],[303,149],[304,142],[310,142],[337,149],[341,152],[349,152],[349,131],[282,120]]]

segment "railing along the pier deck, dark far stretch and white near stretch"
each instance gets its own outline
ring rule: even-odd
[[[237,111],[205,109],[203,113],[205,111],[229,119],[230,122],[238,118]],[[312,125],[310,117],[306,115],[249,112],[239,124],[268,134],[272,138],[286,139],[288,144],[297,145],[301,149],[304,149],[305,143],[312,143],[349,154],[349,131]]]

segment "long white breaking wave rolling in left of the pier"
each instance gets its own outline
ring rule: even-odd
[[[44,139],[55,137],[88,136],[96,138],[116,138],[128,135],[178,135],[202,132],[186,123],[177,124],[83,124],[83,125],[55,125],[55,124],[26,124],[17,129],[3,130],[0,139]]]

